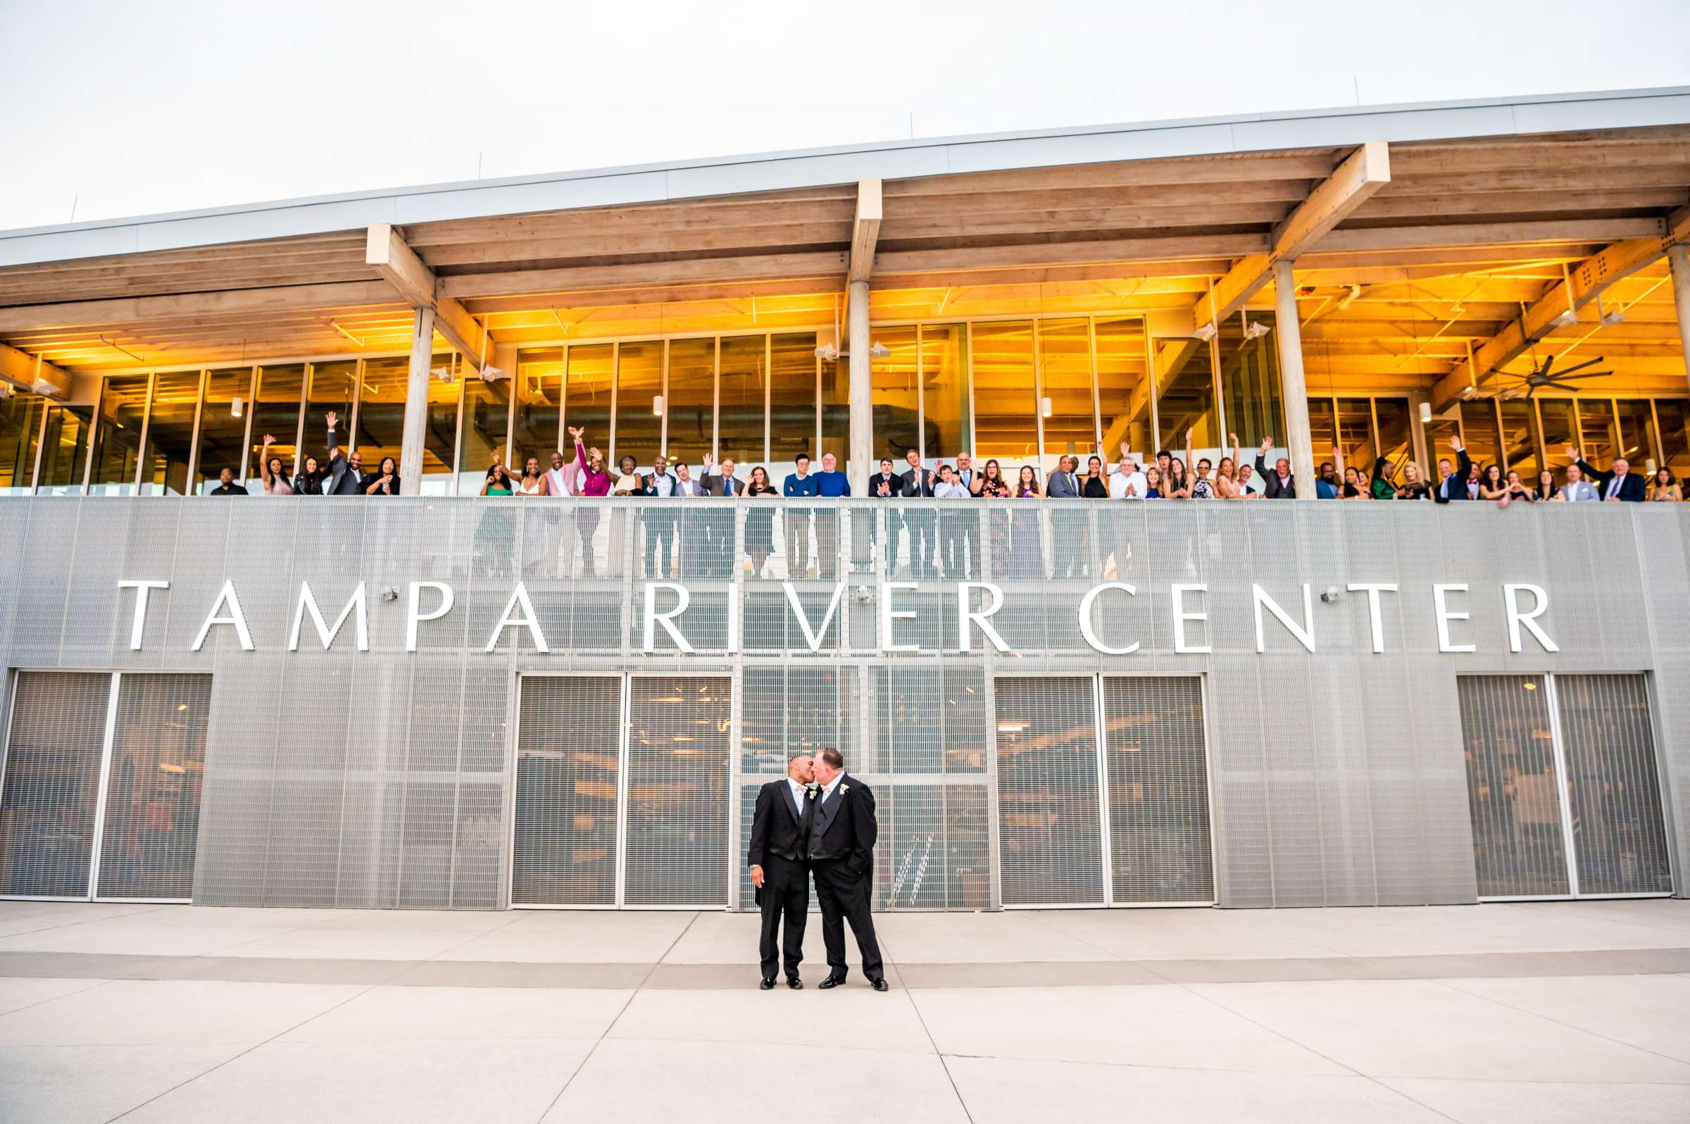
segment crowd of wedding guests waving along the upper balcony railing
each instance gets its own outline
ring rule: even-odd
[[[270,453],[274,438],[265,434],[259,456],[260,478],[265,495],[399,495],[399,465],[392,456],[384,456],[373,470],[365,470],[357,451],[345,453],[336,439],[338,416],[328,414],[328,455],[301,456],[289,477],[282,470],[282,458]],[[1261,443],[1254,461],[1239,456],[1239,438],[1230,434],[1232,455],[1213,463],[1208,456],[1193,456],[1193,431],[1185,434],[1183,456],[1171,450],[1161,450],[1154,456],[1141,461],[1126,443],[1114,463],[1105,463],[1100,455],[1092,455],[1082,461],[1066,455],[1056,468],[1041,478],[1034,465],[1016,465],[1006,472],[997,458],[989,458],[975,467],[968,453],[957,453],[953,461],[941,461],[933,468],[923,465],[921,455],[909,450],[899,467],[892,458],[882,458],[879,468],[865,482],[869,499],[940,499],[940,500],[1000,500],[1000,499],[1090,499],[1090,500],[1259,500],[1259,499],[1296,499],[1300,482],[1291,473],[1286,458],[1268,463],[1273,450],[1273,438]],[[570,426],[573,456],[554,451],[548,456],[549,465],[537,456],[526,458],[521,467],[505,463],[493,453],[492,463],[482,483],[480,495],[492,497],[745,497],[757,499],[835,499],[850,497],[852,485],[838,470],[831,453],[821,456],[820,468],[811,467],[810,456],[799,455],[794,472],[776,483],[767,468],[757,465],[744,477],[739,465],[730,456],[723,456],[718,465],[708,453],[703,456],[698,473],[683,461],[671,463],[662,455],[652,458],[651,468],[642,472],[632,455],[624,455],[615,467],[605,463],[603,453],[590,446],[586,431]],[[1379,456],[1371,472],[1364,473],[1355,465],[1342,463],[1340,451],[1332,450],[1333,460],[1322,461],[1313,482],[1315,499],[1332,500],[1431,500],[1438,504],[1487,500],[1499,507],[1511,504],[1541,502],[1644,502],[1644,500],[1680,500],[1680,487],[1671,470],[1660,468],[1648,478],[1631,472],[1626,458],[1614,458],[1612,465],[1599,470],[1584,461],[1577,450],[1567,448],[1567,465],[1563,475],[1543,470],[1535,480],[1523,480],[1518,472],[1504,472],[1499,465],[1475,465],[1462,446],[1460,439],[1450,441],[1453,460],[1438,460],[1435,480],[1423,477],[1420,467],[1409,460],[1393,461]],[[247,490],[233,482],[232,470],[225,468],[220,487],[211,495],[245,495]],[[862,494],[859,494],[860,497]],[[583,576],[597,576],[593,539],[598,534],[602,517],[607,512],[597,505],[580,505],[573,512],[548,505],[534,509],[524,516],[526,534],[539,534],[546,541],[546,554],[559,558],[564,551],[575,551],[580,539],[580,556]],[[622,543],[629,531],[629,519],[639,521],[641,544],[635,553],[644,554],[646,576],[669,576],[674,565],[696,576],[727,576],[732,573],[735,559],[744,551],[754,575],[762,576],[766,565],[776,554],[774,505],[766,510],[750,509],[744,522],[744,537],[735,544],[735,521],[732,505],[701,505],[683,522],[681,512],[668,505],[646,505],[637,514],[630,514],[625,505],[608,510],[608,541]],[[493,512],[490,512],[493,516]],[[499,521],[514,527],[514,512],[497,514]],[[977,578],[980,576],[980,554],[990,551],[994,573],[1009,576],[1078,576],[1087,573],[1087,558],[1107,556],[1114,544],[1100,541],[1093,544],[1092,521],[1085,509],[1051,510],[1049,539],[1051,566],[1046,566],[1044,531],[1039,512],[1031,507],[994,509],[984,521],[970,514],[965,505],[943,505],[933,510],[901,505],[886,512],[884,519],[864,519],[864,512],[852,512],[853,534],[862,531],[862,539],[880,544],[886,551],[887,571],[892,573],[901,558],[908,558],[908,573],[916,578]],[[831,578],[838,554],[840,517],[833,507],[786,507],[782,510],[782,534],[786,548],[786,573],[793,576],[811,573]],[[1107,529],[1098,529],[1107,536]],[[813,546],[811,546],[813,536]],[[980,539],[985,539],[982,544]],[[532,541],[529,537],[527,541]],[[908,554],[901,554],[904,546]],[[1098,548],[1093,551],[1093,546]],[[607,565],[615,573],[620,566],[620,549],[612,548],[605,554]],[[532,563],[531,570],[539,566]]]

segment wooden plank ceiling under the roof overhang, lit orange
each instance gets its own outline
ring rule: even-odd
[[[1188,311],[1352,150],[887,181],[872,316]],[[1391,183],[1298,259],[1311,387],[1428,387],[1563,264],[1690,205],[1690,127],[1393,144],[1389,161]],[[443,296],[524,343],[833,323],[853,213],[842,184],[402,235]],[[353,230],[0,269],[0,341],[83,372],[406,350],[411,311],[363,248]],[[1658,262],[1619,282],[1604,304],[1624,323],[1585,309],[1540,350],[1589,335],[1624,392],[1683,390],[1663,279]]]

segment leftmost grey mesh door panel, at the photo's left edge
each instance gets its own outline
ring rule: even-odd
[[[17,674],[0,793],[0,894],[88,896],[110,700],[110,674]]]

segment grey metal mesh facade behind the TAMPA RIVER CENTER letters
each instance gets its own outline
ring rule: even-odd
[[[1660,820],[1670,828],[1690,815],[1690,695],[1671,690],[1690,676],[1690,602],[1682,595],[1690,512],[1673,505],[1497,512],[1431,504],[1075,502],[1053,510],[1055,502],[960,509],[930,502],[945,516],[933,521],[943,575],[933,578],[906,573],[911,539],[901,514],[919,502],[804,500],[803,510],[815,512],[806,571],[816,576],[793,588],[816,634],[813,649],[781,585],[791,543],[784,502],[757,509],[772,514],[760,576],[747,546],[749,504],[522,504],[0,497],[0,566],[15,575],[0,583],[0,656],[7,668],[29,673],[211,674],[193,867],[193,898],[206,904],[509,904],[519,884],[512,850],[514,784],[524,776],[519,690],[551,674],[732,681],[727,740],[718,747],[727,776],[715,791],[727,803],[725,898],[733,906],[749,901],[744,793],[779,776],[788,752],[823,744],[837,744],[847,767],[875,789],[886,840],[875,896],[886,908],[975,908],[982,869],[987,908],[1033,901],[1034,889],[1041,898],[1061,891],[1060,901],[1142,899],[1149,891],[1122,882],[1144,869],[1142,847],[1129,854],[1120,847],[1134,832],[1166,830],[1176,821],[1169,808],[1190,808],[1181,801],[1195,761],[1180,757],[1188,771],[1180,793],[1164,791],[1166,801],[1146,820],[1120,821],[1120,801],[1107,801],[1105,852],[1098,771],[1112,796],[1115,786],[1136,783],[1115,752],[1097,761],[1098,740],[1110,744],[1115,735],[1107,686],[1114,679],[1202,679],[1212,896],[1222,906],[1474,901],[1480,882],[1462,676],[1563,683],[1573,674],[1643,673],[1643,686],[1606,695],[1607,717],[1587,750],[1575,745],[1573,715],[1562,713],[1567,749],[1612,762],[1617,747],[1636,747],[1646,730]],[[695,652],[681,654],[657,629],[647,654],[641,651],[644,548],[652,541],[654,570],[661,568],[668,541],[661,527],[671,517],[671,576],[691,597],[678,620]],[[894,517],[899,559],[889,575],[882,554]],[[945,573],[951,558],[945,536],[970,524],[979,548],[972,561],[1004,588],[994,624],[1012,656],[994,652],[979,630],[972,651],[958,651],[957,575]],[[750,546],[760,554],[762,529],[752,531]],[[957,558],[958,570],[972,571],[965,549]],[[931,570],[931,548],[928,563]],[[848,580],[838,597],[833,576]],[[171,581],[150,595],[140,651],[128,647],[134,593],[120,593],[118,578]],[[226,625],[191,651],[225,580],[237,587],[257,651],[243,651]],[[500,629],[493,651],[483,651],[517,580],[526,581],[549,652],[536,651],[522,627]],[[916,614],[892,622],[892,641],[916,642],[919,652],[880,651],[882,580],[918,583],[891,598],[899,612]],[[1114,647],[1139,642],[1132,654],[1102,654],[1080,634],[1078,602],[1105,580],[1131,583],[1136,595],[1100,595],[1095,636]],[[287,651],[301,581],[311,583],[330,619],[363,581],[370,651],[353,651],[350,622],[330,651],[306,622],[299,649]],[[406,651],[411,581],[444,581],[455,593],[448,615],[419,624],[414,652]],[[1372,651],[1367,597],[1347,588],[1362,581],[1398,587],[1381,597],[1382,654]],[[1550,593],[1540,622],[1560,651],[1546,652],[1529,636],[1521,652],[1509,651],[1504,581]],[[1271,615],[1257,651],[1252,583],[1293,619],[1301,617],[1305,583],[1337,590],[1330,602],[1313,600],[1315,652]],[[1455,642],[1477,644],[1475,652],[1438,651],[1431,583],[1469,587],[1452,595],[1452,607],[1470,615],[1452,620],[1450,632]],[[1183,630],[1188,646],[1210,651],[1175,651],[1175,585],[1208,587],[1186,595],[1186,612],[1200,619]],[[733,619],[730,587],[739,598]],[[657,607],[673,603],[669,592],[656,597]],[[422,598],[424,610],[438,603],[434,592]],[[730,637],[737,651],[727,651]],[[27,679],[14,674],[5,688],[25,718]],[[1644,727],[1626,701],[1638,690],[1649,707]],[[1175,703],[1154,705],[1169,725],[1166,708]],[[69,722],[64,707],[52,712],[42,720]],[[1024,730],[1002,728],[1014,723],[1088,745],[1090,779],[1078,761],[1048,774],[1022,771],[1006,734]],[[41,813],[29,813],[24,796],[30,754],[42,745],[30,737],[14,722],[0,810],[8,848],[24,838],[19,832],[41,830]],[[76,737],[52,735],[52,752]],[[617,737],[613,730],[612,745]],[[98,747],[86,752],[98,757]],[[1039,752],[1046,750],[1034,757]],[[1592,791],[1594,803],[1578,808],[1584,825],[1606,801],[1602,815],[1617,825],[1617,850],[1590,848],[1592,886],[1661,884],[1660,845],[1646,838],[1649,781],[1636,750],[1626,752],[1633,764],[1621,798]],[[1071,756],[1083,757],[1078,749]],[[652,769],[661,772],[656,762]],[[1077,859],[1055,879],[1026,862],[1029,847],[1053,838],[1044,832],[1041,842],[1049,810],[1022,799],[1053,778],[1071,786],[1092,816],[1088,837],[1078,830],[1061,837]],[[676,783],[710,788],[695,774]],[[81,830],[91,830],[74,799],[64,808],[73,820],[84,815]],[[34,825],[25,823],[30,815]],[[1580,837],[1587,830],[1580,827]],[[1668,830],[1661,838],[1666,869],[1682,872],[1690,835]],[[51,852],[41,845],[30,843],[29,855],[7,854],[7,877],[64,881],[57,867],[47,872],[51,862],[41,855]],[[613,862],[615,838],[610,855]],[[1117,876],[1107,887],[1105,869]],[[86,879],[86,865],[81,870]],[[86,894],[86,884],[71,892]],[[603,899],[602,889],[588,896]]]

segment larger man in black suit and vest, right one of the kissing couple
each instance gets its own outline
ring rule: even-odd
[[[845,982],[845,921],[862,952],[862,974],[874,990],[887,990],[880,943],[874,938],[869,894],[874,887],[874,793],[845,772],[845,759],[831,745],[816,754],[815,825],[810,832],[810,872],[821,901],[821,943],[828,950],[828,979],[821,987]]]

